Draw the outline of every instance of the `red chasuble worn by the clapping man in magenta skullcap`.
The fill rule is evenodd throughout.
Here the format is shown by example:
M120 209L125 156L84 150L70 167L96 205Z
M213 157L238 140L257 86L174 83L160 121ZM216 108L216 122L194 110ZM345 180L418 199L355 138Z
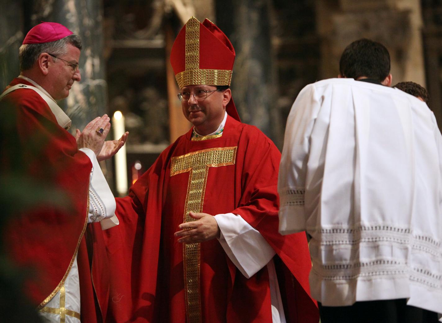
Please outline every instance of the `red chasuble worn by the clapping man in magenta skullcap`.
M17 84L32 86L19 78L10 86ZM4 96L0 101L0 118L8 120L8 136L2 138L0 154L2 172L19 174L36 185L47 185L65 199L61 207L33 204L14 214L3 229L10 258L31 270L24 292L38 309L43 308L64 285L78 253L82 322L96 322L84 239L91 161L78 151L75 138L57 124L48 104L32 89L17 89ZM60 197L50 193L46 198L57 201ZM93 230L89 230L92 238ZM101 232L99 240L103 241ZM92 250L90 256L94 257ZM98 284L99 307L106 312L108 285L101 281Z

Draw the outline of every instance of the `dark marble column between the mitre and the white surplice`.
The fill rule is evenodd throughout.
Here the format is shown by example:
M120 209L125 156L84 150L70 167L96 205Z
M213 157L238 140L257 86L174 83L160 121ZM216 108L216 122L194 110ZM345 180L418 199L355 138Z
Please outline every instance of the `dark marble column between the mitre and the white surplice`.
M232 96L244 123L270 138L281 138L276 104L274 53L271 44L271 1L217 3L217 21L236 51Z

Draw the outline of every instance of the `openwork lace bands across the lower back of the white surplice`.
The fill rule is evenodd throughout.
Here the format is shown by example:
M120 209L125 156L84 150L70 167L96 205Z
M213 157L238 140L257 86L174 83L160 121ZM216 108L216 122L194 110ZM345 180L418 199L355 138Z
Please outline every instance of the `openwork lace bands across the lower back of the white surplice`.
M323 281L370 280L376 278L408 278L426 288L442 290L442 273L419 267L413 260L423 253L431 256L435 263L442 263L441 242L430 235L414 234L409 227L391 224L360 225L355 227L335 226L308 228L315 238L310 242L310 251L326 255L347 250L347 254L360 254L361 248L392 246L411 250L406 258L391 258L379 254L370 261L313 262L312 274ZM356 252L357 251L357 252ZM326 256L324 256L326 258ZM360 255L360 257L362 257Z

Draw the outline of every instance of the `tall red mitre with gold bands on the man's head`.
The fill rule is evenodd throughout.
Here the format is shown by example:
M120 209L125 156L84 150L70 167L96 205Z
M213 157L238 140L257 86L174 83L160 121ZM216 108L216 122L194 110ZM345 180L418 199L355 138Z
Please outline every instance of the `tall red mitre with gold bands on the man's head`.
M191 17L173 43L170 62L179 88L187 85L230 85L235 50L209 19ZM226 111L240 120L230 99Z

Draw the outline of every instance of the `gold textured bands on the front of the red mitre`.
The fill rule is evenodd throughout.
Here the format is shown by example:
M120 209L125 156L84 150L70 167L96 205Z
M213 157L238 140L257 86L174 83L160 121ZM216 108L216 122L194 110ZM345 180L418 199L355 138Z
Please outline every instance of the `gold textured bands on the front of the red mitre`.
M186 23L185 69L175 74L179 88L187 85L230 85L232 71L229 69L199 68L199 27L198 19L192 17Z

